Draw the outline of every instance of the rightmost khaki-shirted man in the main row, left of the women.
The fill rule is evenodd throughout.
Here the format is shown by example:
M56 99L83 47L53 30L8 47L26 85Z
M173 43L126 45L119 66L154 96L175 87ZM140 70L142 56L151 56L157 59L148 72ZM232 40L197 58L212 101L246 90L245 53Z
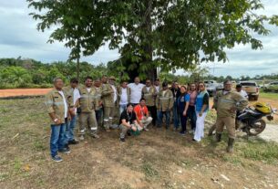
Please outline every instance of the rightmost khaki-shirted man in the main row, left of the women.
M173 93L168 89L166 82L162 83L162 89L160 90L156 105L158 109L158 127L161 127L163 115L166 116L166 129L170 128L170 110L173 108Z

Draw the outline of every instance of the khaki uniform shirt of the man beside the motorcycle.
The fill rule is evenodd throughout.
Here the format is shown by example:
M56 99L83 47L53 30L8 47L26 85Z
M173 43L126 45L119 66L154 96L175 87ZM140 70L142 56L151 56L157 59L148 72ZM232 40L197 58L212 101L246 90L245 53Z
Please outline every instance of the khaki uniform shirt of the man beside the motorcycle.
M226 94L224 94L224 90L218 91L214 97L214 108L217 110L217 116L220 118L234 118L236 112L231 112L231 109L243 110L247 105L248 100L233 90Z

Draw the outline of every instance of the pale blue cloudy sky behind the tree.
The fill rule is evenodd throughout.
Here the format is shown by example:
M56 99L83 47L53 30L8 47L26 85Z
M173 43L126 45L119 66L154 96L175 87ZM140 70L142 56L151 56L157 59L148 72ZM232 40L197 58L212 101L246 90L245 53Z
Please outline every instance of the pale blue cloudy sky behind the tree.
M259 14L277 14L277 0L263 0L264 10ZM62 43L47 44L51 31L44 33L36 30L37 22L28 16L30 9L25 0L0 2L0 58L34 58L42 62L65 61L69 49ZM227 50L229 62L203 63L211 74L216 76L240 77L242 75L278 74L278 27L267 26L272 33L267 37L258 37L263 41L263 50L252 50L248 46L234 47ZM100 47L90 57L82 58L92 64L107 63L118 58L117 50ZM178 71L184 74L183 70Z

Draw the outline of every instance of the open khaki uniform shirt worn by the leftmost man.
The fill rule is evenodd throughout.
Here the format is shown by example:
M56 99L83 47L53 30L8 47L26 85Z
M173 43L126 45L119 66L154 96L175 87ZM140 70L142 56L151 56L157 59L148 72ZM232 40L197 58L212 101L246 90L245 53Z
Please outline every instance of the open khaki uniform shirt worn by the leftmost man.
M68 104L67 94L65 91L63 92L67 101L67 107L69 107L70 105ZM46 94L45 104L48 113L55 113L56 118L59 119L62 123L65 123L64 100L62 95L58 92L57 89L52 89ZM51 119L51 124L55 125L56 123Z

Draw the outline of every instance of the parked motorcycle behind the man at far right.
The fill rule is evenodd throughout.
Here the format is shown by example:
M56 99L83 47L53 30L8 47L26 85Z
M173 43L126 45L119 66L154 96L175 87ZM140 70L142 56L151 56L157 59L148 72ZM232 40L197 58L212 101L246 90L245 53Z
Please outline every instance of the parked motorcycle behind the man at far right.
M277 114L276 111L277 109L273 109L266 103L256 102L238 113L236 127L246 132L248 136L256 136L265 129L266 123L263 117L273 121L273 114Z

